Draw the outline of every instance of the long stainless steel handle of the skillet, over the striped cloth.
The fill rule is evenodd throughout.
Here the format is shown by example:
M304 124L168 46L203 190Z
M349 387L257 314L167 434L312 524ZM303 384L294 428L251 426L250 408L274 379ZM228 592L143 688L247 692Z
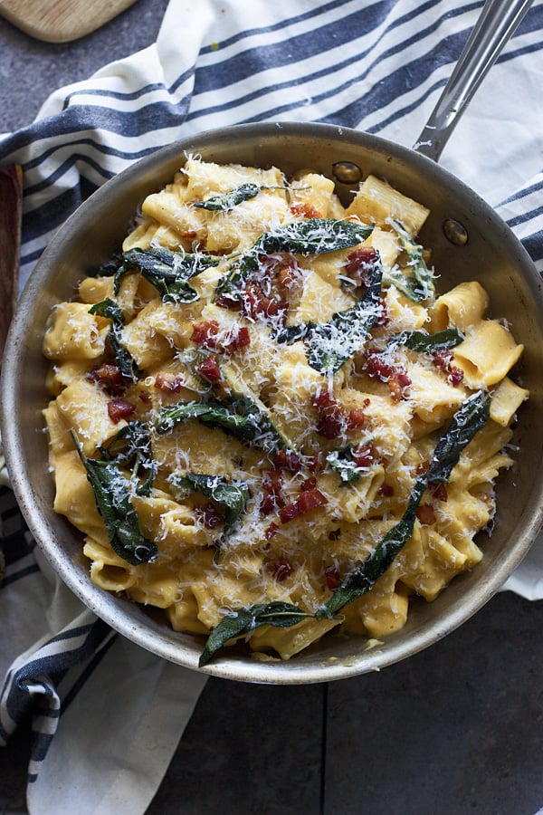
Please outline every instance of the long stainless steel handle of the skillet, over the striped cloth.
M438 161L452 130L533 0L487 0L414 149Z

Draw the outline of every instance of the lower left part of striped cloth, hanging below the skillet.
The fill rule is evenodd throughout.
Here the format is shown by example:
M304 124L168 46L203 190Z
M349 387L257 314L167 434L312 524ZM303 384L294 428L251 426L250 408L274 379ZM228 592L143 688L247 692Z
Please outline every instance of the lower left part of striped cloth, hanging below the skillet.
M84 609L35 551L5 487L0 519L0 744L9 750L15 728L31 721L28 808L32 815L138 815L157 791L205 676L153 657Z

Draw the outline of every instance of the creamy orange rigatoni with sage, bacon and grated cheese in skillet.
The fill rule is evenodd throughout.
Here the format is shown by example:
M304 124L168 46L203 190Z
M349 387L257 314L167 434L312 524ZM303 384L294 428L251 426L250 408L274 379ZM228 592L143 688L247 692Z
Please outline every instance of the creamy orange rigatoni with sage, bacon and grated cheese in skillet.
M98 586L208 636L201 665L386 637L481 561L522 346L479 283L437 292L428 214L189 157L54 308L55 511Z

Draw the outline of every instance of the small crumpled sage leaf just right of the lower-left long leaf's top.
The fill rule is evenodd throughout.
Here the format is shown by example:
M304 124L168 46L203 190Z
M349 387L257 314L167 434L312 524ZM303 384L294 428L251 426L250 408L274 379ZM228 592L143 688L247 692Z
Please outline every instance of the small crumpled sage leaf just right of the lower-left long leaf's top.
M148 426L139 420L121 427L107 446L100 446L100 454L105 461L114 461L119 467L132 470L132 482L138 484L136 493L148 495L151 492L157 462L153 459ZM139 476L143 481L138 483Z

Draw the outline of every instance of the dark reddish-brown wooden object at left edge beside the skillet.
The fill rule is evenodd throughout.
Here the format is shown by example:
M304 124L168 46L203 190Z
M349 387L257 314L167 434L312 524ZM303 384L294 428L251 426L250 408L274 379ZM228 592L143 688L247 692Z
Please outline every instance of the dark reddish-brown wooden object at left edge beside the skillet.
M18 293L22 202L21 168L0 165L0 357Z

